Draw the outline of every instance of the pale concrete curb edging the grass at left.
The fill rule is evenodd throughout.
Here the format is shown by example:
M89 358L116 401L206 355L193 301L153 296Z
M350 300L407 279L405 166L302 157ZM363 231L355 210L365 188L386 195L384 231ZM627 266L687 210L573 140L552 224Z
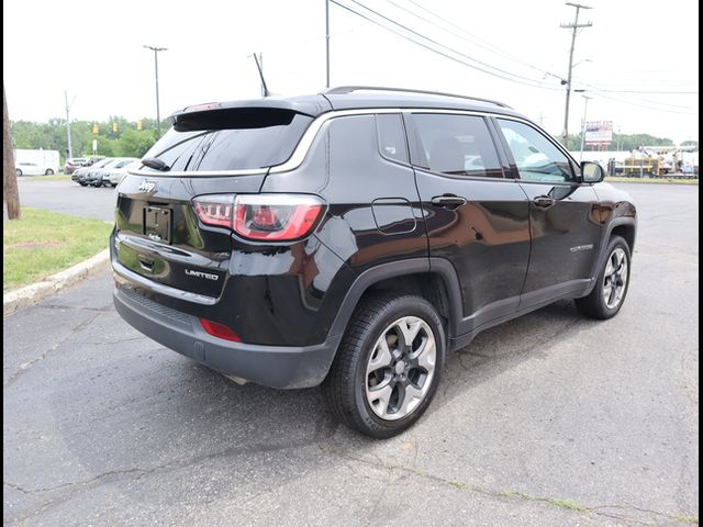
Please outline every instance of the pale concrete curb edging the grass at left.
M15 311L35 304L59 291L96 274L110 261L110 250L104 249L87 260L68 269L52 274L41 282L15 289L2 295L2 314L10 315Z

